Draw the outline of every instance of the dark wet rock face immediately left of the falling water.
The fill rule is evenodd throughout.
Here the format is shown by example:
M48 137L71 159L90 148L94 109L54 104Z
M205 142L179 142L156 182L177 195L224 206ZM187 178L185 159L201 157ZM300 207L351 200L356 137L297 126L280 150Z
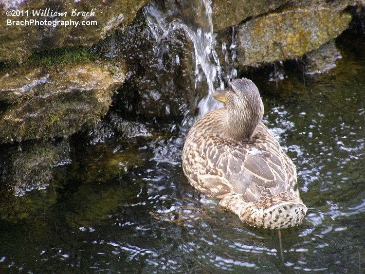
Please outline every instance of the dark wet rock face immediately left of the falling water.
M193 43L181 25L156 41L143 14L136 20L96 46L106 58L113 55L128 64L126 82L113 105L127 118L182 120L196 111L206 92L205 81L195 84Z

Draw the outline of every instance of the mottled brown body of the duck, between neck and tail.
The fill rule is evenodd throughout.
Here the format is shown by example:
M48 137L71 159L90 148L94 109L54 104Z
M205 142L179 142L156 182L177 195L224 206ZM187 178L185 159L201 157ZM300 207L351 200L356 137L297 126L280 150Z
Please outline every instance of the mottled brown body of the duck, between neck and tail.
M258 200L263 191L277 195L294 186L295 166L265 125L260 122L248 141L224 139L219 123L204 123L219 120L224 109L215 111L198 121L185 141L183 171L193 186L210 197L240 194L245 201Z

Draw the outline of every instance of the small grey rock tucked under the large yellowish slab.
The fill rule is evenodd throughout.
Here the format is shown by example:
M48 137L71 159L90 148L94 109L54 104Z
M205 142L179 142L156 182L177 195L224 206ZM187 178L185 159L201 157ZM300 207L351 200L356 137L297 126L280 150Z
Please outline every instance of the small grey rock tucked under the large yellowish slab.
M336 67L335 61L341 59L341 53L336 48L334 41L320 46L304 55L305 73L316 74L325 73Z

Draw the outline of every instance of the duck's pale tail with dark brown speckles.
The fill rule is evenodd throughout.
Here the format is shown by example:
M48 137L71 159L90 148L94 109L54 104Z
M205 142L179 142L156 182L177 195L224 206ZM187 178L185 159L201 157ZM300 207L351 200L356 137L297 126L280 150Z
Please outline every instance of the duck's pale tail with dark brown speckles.
M298 193L283 192L257 201L244 201L239 194L228 195L219 204L233 211L249 225L281 229L298 225L307 213L307 207Z

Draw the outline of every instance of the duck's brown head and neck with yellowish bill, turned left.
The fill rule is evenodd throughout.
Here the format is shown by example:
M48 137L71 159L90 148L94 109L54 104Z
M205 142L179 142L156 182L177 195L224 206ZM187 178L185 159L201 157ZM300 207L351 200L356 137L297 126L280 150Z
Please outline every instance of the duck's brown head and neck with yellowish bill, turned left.
M249 79L236 79L228 88L213 93L227 109L224 130L229 138L242 141L251 137L264 114L264 105L256 85Z

